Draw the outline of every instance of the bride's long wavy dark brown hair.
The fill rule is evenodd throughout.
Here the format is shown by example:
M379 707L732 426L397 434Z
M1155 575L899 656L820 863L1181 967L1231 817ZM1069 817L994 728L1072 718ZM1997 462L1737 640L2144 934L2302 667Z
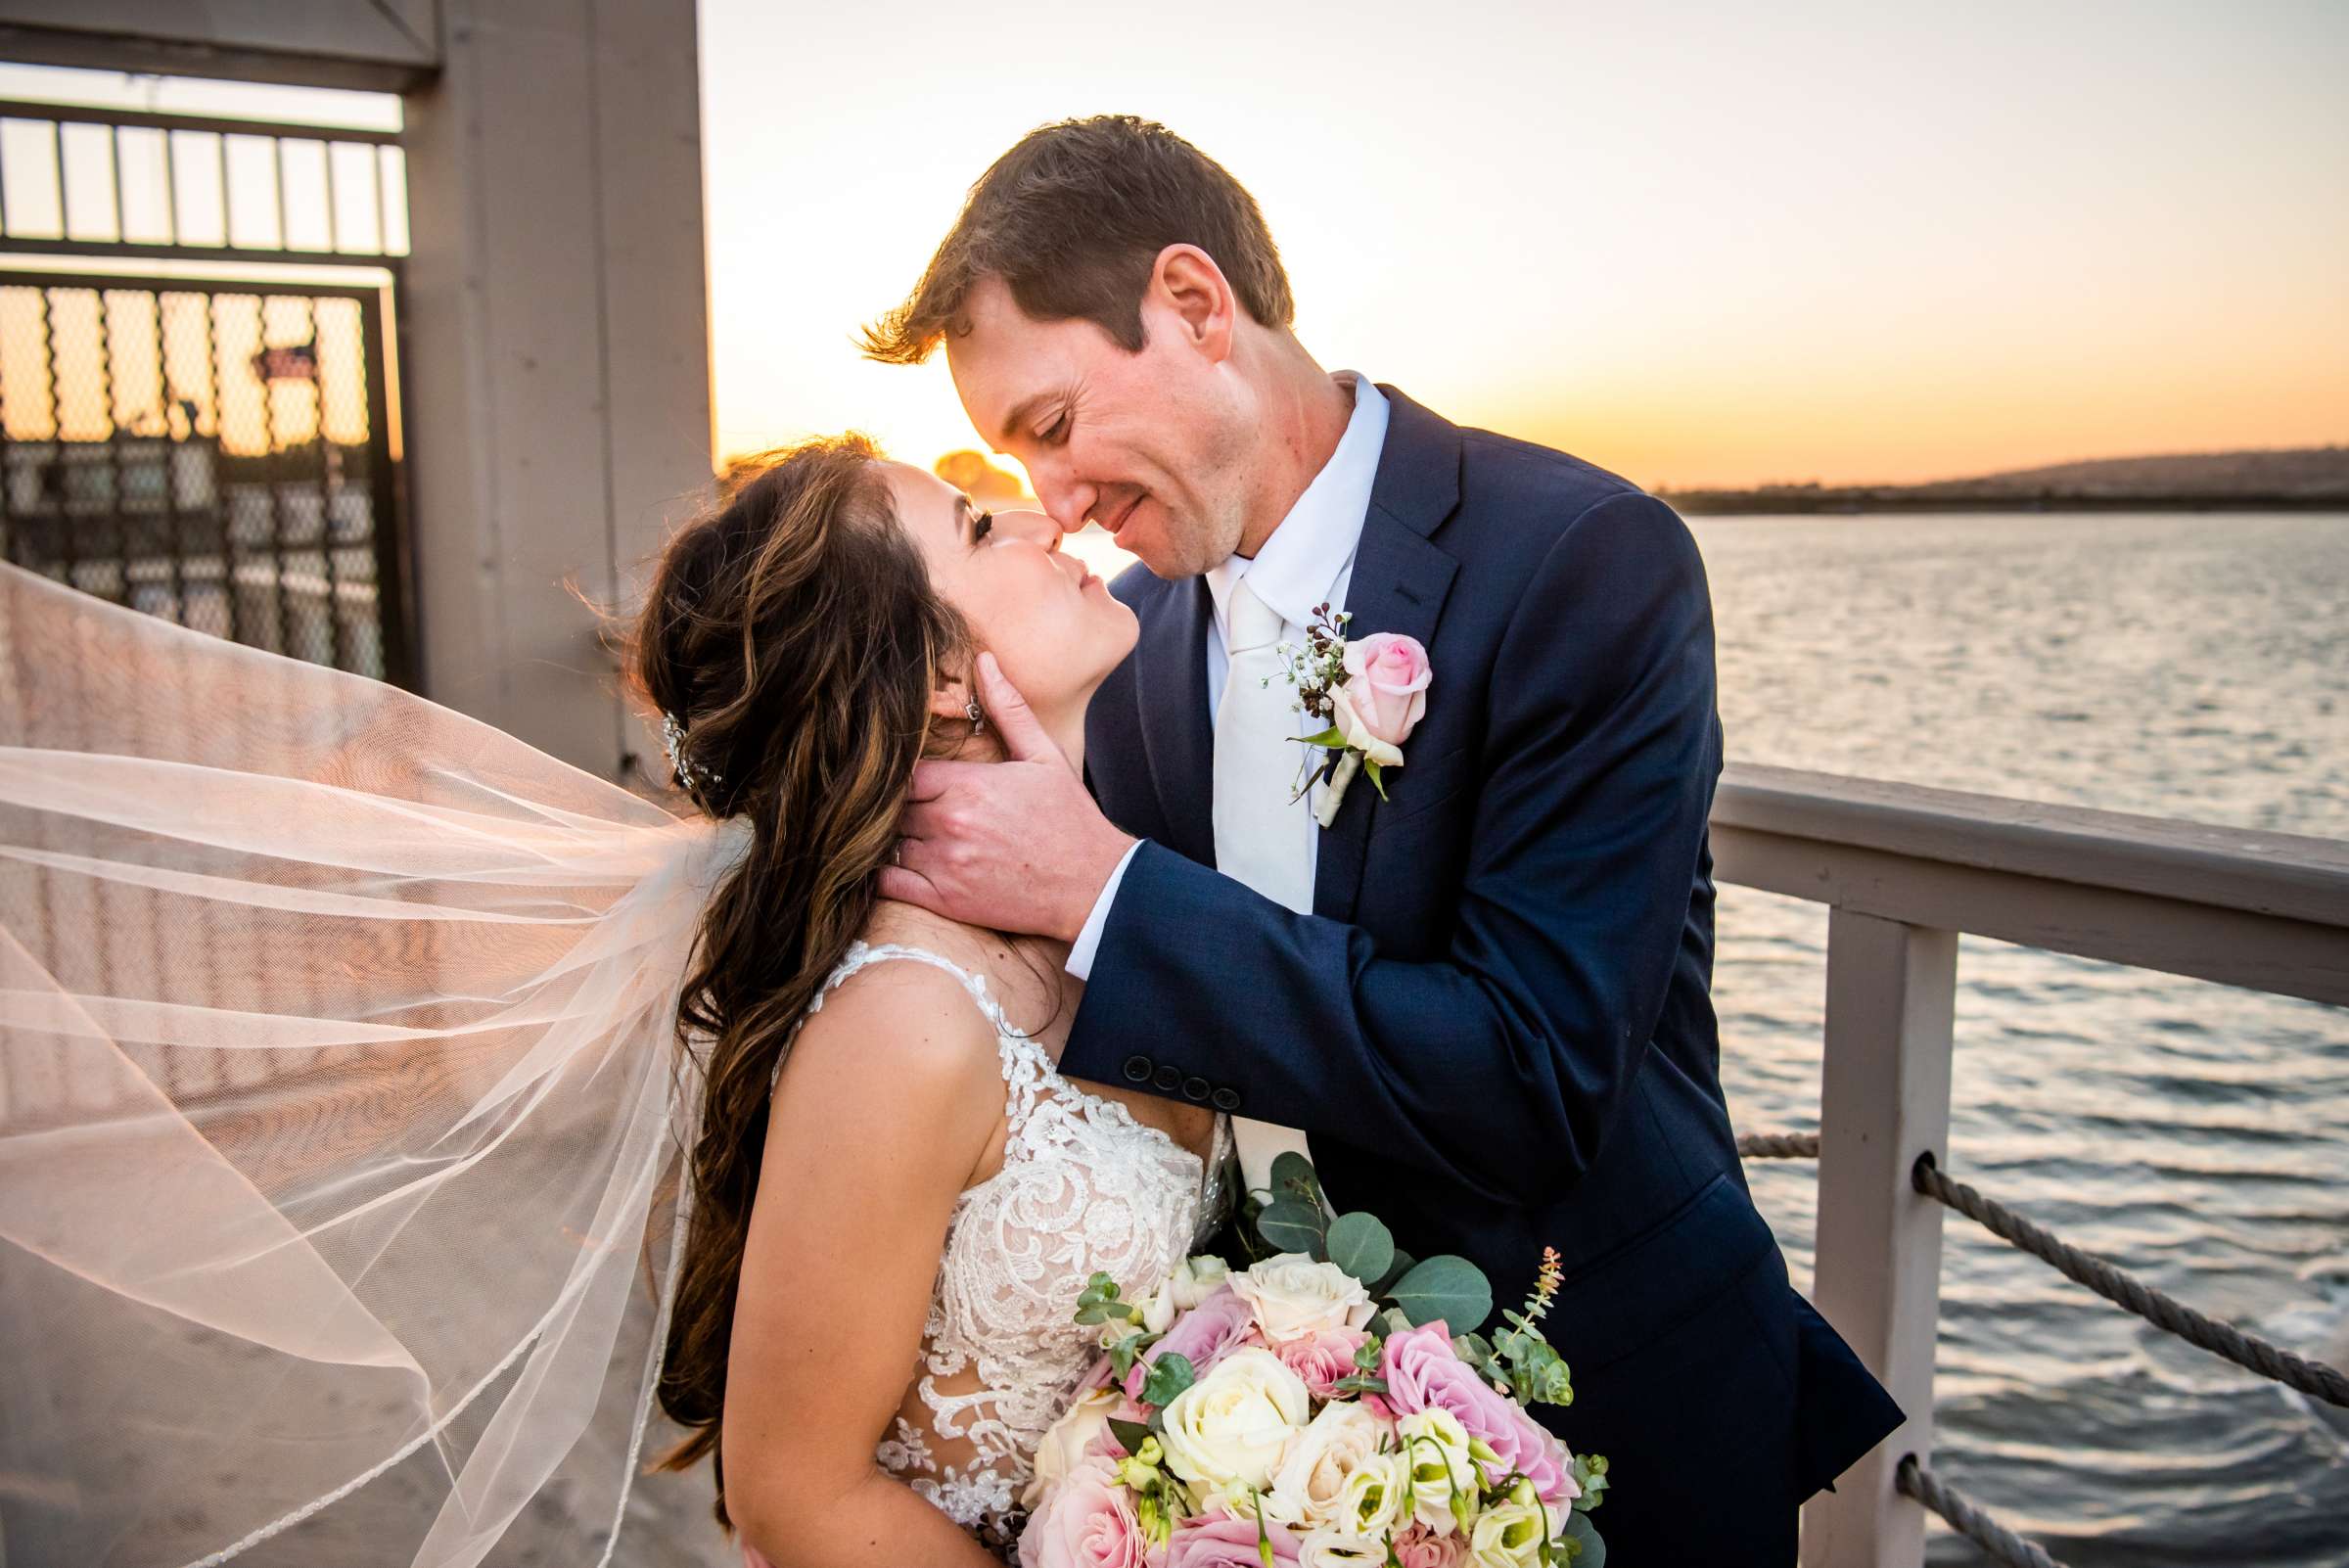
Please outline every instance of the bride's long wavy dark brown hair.
M768 1080L874 913L914 763L968 739L930 716L930 695L968 667L970 634L900 528L879 458L836 437L738 462L669 542L632 638L641 695L684 725L681 784L752 826L679 1002L705 1089L660 1371L660 1406L691 1434L667 1469L719 1453Z

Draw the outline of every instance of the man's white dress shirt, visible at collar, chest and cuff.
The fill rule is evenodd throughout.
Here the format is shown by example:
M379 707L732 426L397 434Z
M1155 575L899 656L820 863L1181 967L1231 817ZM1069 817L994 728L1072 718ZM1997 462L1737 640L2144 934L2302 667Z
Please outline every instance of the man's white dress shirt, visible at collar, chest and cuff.
M1353 392L1353 418L1339 437L1330 462L1313 474L1290 514L1280 519L1254 559L1231 556L1221 566L1207 568L1207 599L1214 613L1207 617L1207 723L1224 697L1224 678L1231 657L1224 653L1231 631L1231 592L1240 577L1257 599L1280 613L1287 622L1283 641L1304 646L1306 627L1313 624L1313 606L1346 606L1346 587L1353 582L1353 554L1362 542L1362 519L1369 516L1369 488L1379 477L1379 453L1386 451L1386 397L1358 371L1337 371L1339 385ZM1304 840L1306 866L1320 861L1320 824L1313 822L1311 803L1290 803L1290 779L1266 779L1266 810L1297 815L1297 833ZM1102 948L1102 932L1109 927L1109 911L1118 901L1125 869L1135 861L1135 845L1109 873L1102 897L1085 915L1085 930L1069 948L1066 969L1076 979L1092 974L1092 958Z

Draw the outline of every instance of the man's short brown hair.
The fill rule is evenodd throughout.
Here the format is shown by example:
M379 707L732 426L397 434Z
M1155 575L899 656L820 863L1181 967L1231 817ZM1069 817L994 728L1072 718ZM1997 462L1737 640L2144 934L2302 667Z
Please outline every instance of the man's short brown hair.
M970 188L914 293L864 329L864 352L921 364L968 331L963 305L984 277L1038 322L1097 322L1139 352L1142 293L1170 244L1207 251L1261 326L1294 324L1273 235L1224 164L1132 115L1038 127Z

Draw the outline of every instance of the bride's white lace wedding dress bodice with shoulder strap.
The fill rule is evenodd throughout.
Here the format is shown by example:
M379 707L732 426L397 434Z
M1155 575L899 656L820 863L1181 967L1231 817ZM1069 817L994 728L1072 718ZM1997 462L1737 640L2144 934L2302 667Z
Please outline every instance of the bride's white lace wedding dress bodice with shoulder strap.
M1003 1169L956 1199L914 1383L876 1460L1008 1552L1036 1446L1099 1357L1099 1329L1076 1322L1078 1293L1095 1272L1146 1293L1205 1242L1231 1199L1231 1120L1217 1117L1200 1162L1062 1077L982 976L923 948L855 944L810 1012L886 960L954 974L994 1023L1010 1136Z

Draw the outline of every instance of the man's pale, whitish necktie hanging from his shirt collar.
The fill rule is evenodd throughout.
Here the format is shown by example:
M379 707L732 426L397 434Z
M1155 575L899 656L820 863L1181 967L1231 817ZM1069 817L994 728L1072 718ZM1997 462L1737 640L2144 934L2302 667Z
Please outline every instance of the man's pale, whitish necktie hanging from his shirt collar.
M1229 674L1214 709L1214 869L1247 883L1266 899L1313 911L1313 852L1306 838L1306 805L1290 803L1297 789L1304 732L1297 690L1283 681L1280 638L1287 622L1240 577L1231 592ZM1304 1045L1304 1042L1299 1042ZM1294 1127L1231 1120L1240 1148L1240 1171L1250 1188L1268 1188L1273 1157L1306 1153Z

